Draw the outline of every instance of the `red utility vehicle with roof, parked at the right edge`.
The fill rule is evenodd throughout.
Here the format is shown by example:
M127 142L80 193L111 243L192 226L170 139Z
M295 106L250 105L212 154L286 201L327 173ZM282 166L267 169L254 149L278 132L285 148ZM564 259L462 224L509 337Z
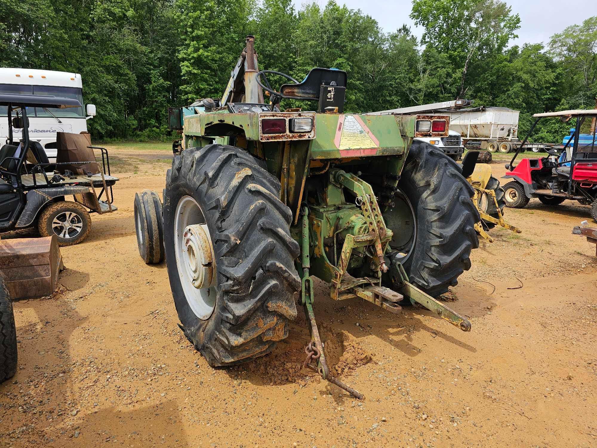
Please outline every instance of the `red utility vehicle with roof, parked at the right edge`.
M530 198L538 198L543 204L558 205L567 199L591 206L591 215L597 221L597 139L595 130L588 143L579 138L581 127L590 125L597 118L597 110L576 110L536 113L529 134L542 118L557 117L563 122L576 119L574 134L563 149L546 146L549 157L522 159L514 165L528 135L516 151L510 163L506 164L506 179L513 179L504 185L507 207L522 208ZM580 142L580 143L579 143Z

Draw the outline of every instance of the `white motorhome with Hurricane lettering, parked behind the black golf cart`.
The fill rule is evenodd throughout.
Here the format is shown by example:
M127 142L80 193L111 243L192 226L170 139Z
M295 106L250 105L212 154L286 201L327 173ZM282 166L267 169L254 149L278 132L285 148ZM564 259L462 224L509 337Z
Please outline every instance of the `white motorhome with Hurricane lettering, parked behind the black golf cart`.
M0 68L0 93L27 95L50 95L74 98L83 105L83 85L78 73ZM87 131L87 120L96 115L96 106L87 108L34 108L27 111L29 136L44 148L50 162L56 161L56 133L79 134ZM87 112L87 113L85 113ZM0 106L0 116L6 116L6 106ZM21 129L13 128L13 135L19 138ZM7 139L8 124L0 122L0 138Z

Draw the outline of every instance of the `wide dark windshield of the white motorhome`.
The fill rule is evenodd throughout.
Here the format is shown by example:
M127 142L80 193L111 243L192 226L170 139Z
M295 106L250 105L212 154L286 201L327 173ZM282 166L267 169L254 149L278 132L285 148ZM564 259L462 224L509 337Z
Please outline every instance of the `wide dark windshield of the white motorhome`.
M24 95L51 95L61 96L66 98L74 98L83 104L83 93L80 88L76 87L60 87L53 85L19 85L19 84L0 84L0 92L2 93L18 93ZM47 116L52 118L52 115L42 108L35 108L35 113L32 113L33 108L27 108L27 115L33 116ZM48 111L59 118L85 118L82 106L80 108L56 109L48 108ZM7 115L6 106L0 106L0 115Z

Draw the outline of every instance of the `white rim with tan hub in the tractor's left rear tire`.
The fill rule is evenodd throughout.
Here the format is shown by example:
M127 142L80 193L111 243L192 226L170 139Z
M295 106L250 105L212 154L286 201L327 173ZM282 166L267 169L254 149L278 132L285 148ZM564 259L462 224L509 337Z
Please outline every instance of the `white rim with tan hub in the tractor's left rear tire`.
M174 220L176 268L184 297L193 313L202 320L210 317L216 306L217 272L210 230L204 216L201 207L192 197L180 198ZM207 247L201 244L205 241L208 241ZM210 259L209 267L198 263L198 260L207 259Z

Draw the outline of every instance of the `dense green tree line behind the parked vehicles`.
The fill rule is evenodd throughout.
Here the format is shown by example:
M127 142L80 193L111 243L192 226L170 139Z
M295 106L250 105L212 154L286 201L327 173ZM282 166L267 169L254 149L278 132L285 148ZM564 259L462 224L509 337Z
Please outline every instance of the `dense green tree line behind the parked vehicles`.
M521 27L501 0L413 0L417 39L333 0L0 0L0 65L81 73L96 137L164 136L168 106L219 97L246 35L261 69L302 79L315 66L346 70L346 111L456 98L531 114L593 108L597 17L550 42L512 46ZM559 140L565 125L537 130Z

